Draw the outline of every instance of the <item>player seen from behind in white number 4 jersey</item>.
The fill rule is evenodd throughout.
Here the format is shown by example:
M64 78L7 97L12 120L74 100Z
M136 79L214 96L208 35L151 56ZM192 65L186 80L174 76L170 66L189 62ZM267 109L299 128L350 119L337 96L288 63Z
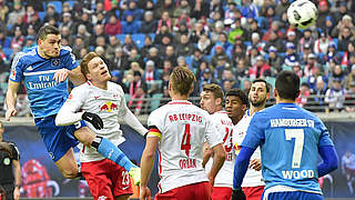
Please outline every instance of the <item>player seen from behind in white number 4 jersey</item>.
M187 101L194 81L192 71L175 68L169 81L172 101L154 110L148 119L149 133L141 160L141 200L151 196L146 184L156 147L161 181L155 199L211 199L211 184L223 166L225 152L210 114ZM204 141L214 153L207 174L202 167Z

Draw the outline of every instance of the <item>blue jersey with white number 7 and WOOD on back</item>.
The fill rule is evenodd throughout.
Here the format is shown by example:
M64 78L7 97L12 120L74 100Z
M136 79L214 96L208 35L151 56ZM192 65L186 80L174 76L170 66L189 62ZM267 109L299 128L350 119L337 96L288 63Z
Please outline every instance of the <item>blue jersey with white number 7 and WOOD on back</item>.
M324 123L294 103L278 103L253 117L242 146L261 147L265 190L286 186L322 193L318 147L334 146Z

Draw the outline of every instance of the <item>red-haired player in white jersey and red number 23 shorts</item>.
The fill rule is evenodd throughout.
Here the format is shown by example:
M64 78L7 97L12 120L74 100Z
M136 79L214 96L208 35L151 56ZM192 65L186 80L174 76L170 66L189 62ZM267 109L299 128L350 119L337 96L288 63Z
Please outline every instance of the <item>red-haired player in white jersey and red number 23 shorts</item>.
M101 118L104 127L101 130L95 130L90 123L88 127L115 146L124 141L120 123L118 123L119 118L122 118L126 124L141 134L148 132L128 109L121 86L109 81L111 76L108 66L97 53L88 53L80 67L88 81L71 91L58 112L57 126L73 124L81 120L84 112L90 112L94 118ZM123 157L123 159L128 158ZM134 167L132 162L126 160L122 167L119 167L98 153L94 148L85 146L81 147L80 161L82 174L87 179L94 199L99 197L129 199L132 188L129 174L122 167L129 171ZM140 181L138 177L134 179Z

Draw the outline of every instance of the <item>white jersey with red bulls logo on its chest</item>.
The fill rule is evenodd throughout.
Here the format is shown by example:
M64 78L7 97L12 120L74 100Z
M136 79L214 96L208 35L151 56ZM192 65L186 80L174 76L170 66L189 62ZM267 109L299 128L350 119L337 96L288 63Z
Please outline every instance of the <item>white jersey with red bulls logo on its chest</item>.
M125 141L119 123L119 118L128 112L121 86L109 81L108 90L102 90L88 81L71 91L62 109L97 113L103 121L103 129L97 130L91 123L87 122L92 131L106 138L115 146ZM104 159L94 148L84 147L82 143L78 147L81 150L81 162Z

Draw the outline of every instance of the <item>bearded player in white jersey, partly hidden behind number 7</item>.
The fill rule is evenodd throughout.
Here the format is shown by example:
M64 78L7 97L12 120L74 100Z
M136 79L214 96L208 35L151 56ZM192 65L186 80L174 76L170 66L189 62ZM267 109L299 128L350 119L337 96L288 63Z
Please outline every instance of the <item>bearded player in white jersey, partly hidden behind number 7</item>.
M234 143L236 149L241 149L240 144L243 142L246 130L248 128L255 112L265 108L266 100L270 98L270 84L263 79L255 79L248 91L250 109L246 110L241 121L235 124ZM261 164L261 152L257 148L252 156L251 166ZM247 169L243 179L243 191L245 192L247 200L260 200L264 191L263 176L260 170Z

